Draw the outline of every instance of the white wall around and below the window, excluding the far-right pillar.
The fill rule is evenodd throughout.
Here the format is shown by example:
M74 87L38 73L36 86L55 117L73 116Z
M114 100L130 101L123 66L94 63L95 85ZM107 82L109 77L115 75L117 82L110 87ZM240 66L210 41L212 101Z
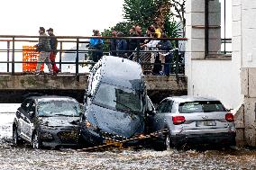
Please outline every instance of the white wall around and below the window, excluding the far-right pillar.
M233 2L241 4L238 0ZM220 16L220 4L218 1L211 2L209 12L212 15ZM213 7L215 6L215 7ZM205 55L205 29L198 29L197 25L205 26L205 0L187 1L187 54L186 54L186 76L187 94L211 96L221 100L228 108L239 108L242 104L240 68L241 68L241 13L235 13L236 50L232 59L206 59ZM187 9L187 8L186 8ZM209 16L210 17L210 16ZM197 18L194 20L194 18ZM211 18L211 17L210 17ZM219 25L220 18L214 17L210 25ZM189 21L192 20L192 21ZM196 26L196 27L195 27ZM203 27L204 28L204 27ZM218 40L220 29L210 29L209 38ZM218 44L218 43L215 43ZM210 48L211 49L211 48ZM216 47L216 49L218 49ZM215 49L214 49L215 50Z

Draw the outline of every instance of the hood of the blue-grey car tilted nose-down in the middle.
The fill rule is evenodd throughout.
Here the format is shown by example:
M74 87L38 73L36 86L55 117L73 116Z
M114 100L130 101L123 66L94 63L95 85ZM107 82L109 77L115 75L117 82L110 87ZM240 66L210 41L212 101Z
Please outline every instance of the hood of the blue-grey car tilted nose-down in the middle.
M119 112L94 105L91 112L87 112L87 117L94 119L101 132L125 138L140 134L144 129L143 116L133 112Z

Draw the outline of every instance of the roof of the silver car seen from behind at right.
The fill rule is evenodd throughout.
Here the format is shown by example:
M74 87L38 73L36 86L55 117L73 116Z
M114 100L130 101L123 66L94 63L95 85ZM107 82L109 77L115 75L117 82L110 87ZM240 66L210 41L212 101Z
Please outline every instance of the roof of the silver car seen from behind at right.
M192 96L192 95L172 96L172 97L167 97L166 99L173 100L178 103L186 103L186 102L193 102L193 101L219 101L212 97Z

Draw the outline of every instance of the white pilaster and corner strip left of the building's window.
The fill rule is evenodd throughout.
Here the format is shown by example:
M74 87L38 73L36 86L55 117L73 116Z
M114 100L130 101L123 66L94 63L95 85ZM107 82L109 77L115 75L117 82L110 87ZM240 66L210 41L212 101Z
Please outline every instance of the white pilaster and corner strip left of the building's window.
M186 2L186 59L187 93L193 94L192 59L202 59L205 54L205 0Z

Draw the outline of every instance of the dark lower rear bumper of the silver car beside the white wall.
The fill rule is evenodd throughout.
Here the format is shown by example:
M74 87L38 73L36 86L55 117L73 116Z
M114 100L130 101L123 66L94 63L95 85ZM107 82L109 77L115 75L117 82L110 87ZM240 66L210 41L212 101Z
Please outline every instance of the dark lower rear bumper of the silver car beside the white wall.
M235 145L235 133L209 133L170 136L173 145L189 144L226 144Z

